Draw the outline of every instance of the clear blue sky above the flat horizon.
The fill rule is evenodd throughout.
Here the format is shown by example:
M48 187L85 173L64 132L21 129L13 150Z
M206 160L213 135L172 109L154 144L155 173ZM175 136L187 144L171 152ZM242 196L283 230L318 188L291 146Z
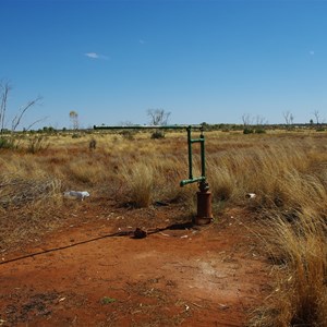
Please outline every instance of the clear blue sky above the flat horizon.
M22 126L327 122L327 1L0 0L0 39Z

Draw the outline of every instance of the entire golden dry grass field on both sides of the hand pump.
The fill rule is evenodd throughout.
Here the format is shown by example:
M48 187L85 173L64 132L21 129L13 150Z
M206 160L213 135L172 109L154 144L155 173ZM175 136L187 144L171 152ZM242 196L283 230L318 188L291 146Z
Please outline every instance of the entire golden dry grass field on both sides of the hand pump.
M179 186L187 178L185 133L150 136L26 133L20 147L0 148L0 251L64 226L56 213L73 209L62 197L69 190L131 208L183 203L194 214L196 185ZM251 210L271 264L275 287L251 313L251 326L327 325L326 138L306 130L206 133L214 215L234 206ZM90 140L97 144L92 150ZM247 199L250 192L256 196Z

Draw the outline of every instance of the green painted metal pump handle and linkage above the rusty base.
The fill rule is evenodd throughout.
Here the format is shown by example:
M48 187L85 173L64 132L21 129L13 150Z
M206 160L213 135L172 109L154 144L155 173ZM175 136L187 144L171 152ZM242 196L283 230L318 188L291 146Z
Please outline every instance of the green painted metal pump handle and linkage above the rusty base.
M208 190L206 183L206 165L205 165L205 137L203 134L202 125L94 125L95 130L186 130L187 131L187 149L189 149L189 179L180 182L181 186L185 186L191 183L199 183L202 191ZM201 130L198 138L192 138L192 130ZM193 160L192 160L192 145L194 143L201 144L201 177L193 177Z

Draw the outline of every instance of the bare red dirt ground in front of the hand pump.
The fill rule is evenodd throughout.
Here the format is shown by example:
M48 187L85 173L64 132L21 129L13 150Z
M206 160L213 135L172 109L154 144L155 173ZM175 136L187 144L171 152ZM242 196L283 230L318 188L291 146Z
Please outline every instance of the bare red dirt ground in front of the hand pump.
M244 326L269 291L249 213L192 227L178 205L95 208L0 256L0 326Z

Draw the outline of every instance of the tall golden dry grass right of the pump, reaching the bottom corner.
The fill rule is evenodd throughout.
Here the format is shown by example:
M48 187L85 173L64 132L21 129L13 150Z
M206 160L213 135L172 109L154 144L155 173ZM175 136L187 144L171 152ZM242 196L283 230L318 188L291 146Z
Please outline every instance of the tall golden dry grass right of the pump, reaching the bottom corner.
M325 145L314 138L263 141L210 159L217 201L246 205L244 194L257 194L249 206L264 218L261 238L276 267L276 291L251 326L327 326Z

